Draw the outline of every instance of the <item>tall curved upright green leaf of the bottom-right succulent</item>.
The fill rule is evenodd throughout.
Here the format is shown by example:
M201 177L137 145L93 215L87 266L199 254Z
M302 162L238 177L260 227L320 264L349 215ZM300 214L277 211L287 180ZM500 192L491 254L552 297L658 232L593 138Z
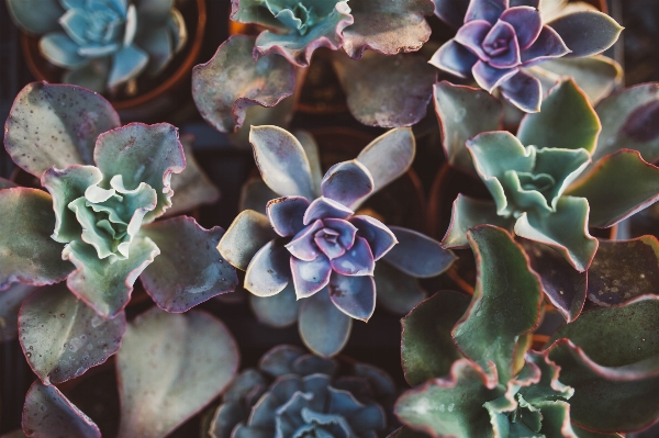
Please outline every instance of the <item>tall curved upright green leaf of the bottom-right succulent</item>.
M515 374L521 338L537 327L543 304L538 276L505 231L482 225L467 233L476 256L473 300L453 337L460 351L483 369L496 366L500 382Z

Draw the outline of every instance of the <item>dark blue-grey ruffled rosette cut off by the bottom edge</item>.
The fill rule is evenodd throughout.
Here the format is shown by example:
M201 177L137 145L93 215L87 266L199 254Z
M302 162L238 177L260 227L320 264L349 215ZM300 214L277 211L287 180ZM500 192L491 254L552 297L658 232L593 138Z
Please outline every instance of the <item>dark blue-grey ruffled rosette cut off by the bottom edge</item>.
M339 371L339 369L348 370ZM266 352L222 397L209 436L382 437L396 390L382 370L346 366L292 346Z

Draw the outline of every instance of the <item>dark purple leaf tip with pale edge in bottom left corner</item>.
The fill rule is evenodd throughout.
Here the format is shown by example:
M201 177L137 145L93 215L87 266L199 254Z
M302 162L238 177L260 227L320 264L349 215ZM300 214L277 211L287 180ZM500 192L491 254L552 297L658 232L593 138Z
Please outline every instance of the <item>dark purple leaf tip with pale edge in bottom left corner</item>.
M23 406L23 431L33 438L101 438L99 427L55 386L35 381Z

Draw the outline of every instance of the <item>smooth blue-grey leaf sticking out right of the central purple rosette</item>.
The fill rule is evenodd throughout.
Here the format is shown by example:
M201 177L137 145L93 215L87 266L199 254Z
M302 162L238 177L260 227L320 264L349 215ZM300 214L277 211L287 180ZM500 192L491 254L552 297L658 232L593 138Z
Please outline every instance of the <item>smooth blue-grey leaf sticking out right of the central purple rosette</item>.
M434 240L421 233L400 226L390 226L398 244L384 255L384 260L417 278L428 278L446 271L455 261L456 256L448 249L442 248Z

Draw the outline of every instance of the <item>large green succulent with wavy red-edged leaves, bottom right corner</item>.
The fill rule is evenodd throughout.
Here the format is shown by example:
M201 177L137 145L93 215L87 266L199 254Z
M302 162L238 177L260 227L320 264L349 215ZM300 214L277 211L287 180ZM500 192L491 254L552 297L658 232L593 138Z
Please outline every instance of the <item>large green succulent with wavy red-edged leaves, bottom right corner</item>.
M490 225L468 237L473 297L443 291L403 319L402 364L416 388L396 402L396 435L617 437L659 419L648 406L659 383L656 295L585 312L534 351L544 299L523 248Z

